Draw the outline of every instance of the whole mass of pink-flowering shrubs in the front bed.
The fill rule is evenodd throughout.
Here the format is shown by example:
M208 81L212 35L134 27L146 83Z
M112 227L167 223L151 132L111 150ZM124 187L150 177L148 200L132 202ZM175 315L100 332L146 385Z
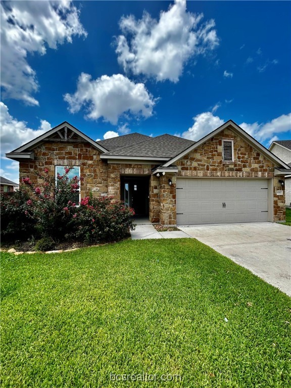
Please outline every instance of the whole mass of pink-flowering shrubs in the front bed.
M122 201L112 197L85 197L80 204L71 201L78 193L80 179L68 178L70 167L64 174L54 177L47 169L37 172L37 186L29 178L23 178L19 190L13 196L1 195L1 237L3 243L35 240L40 249L43 241L51 241L50 247L73 241L81 244L117 241L134 229L134 211ZM81 178L82 179L82 178ZM79 206L78 206L79 205ZM37 243L38 239L42 239Z

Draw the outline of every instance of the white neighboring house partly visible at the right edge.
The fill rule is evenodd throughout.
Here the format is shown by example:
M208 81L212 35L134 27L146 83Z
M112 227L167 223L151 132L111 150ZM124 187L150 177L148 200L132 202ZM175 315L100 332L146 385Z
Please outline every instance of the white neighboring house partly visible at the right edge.
M291 167L291 140L273 141L269 150ZM291 205L291 175L285 176L285 203Z

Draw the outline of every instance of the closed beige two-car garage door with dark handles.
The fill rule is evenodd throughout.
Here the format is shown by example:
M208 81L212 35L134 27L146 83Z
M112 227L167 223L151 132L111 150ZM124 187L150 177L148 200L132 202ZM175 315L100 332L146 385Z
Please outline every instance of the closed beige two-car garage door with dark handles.
M177 178L177 225L268 220L267 179Z

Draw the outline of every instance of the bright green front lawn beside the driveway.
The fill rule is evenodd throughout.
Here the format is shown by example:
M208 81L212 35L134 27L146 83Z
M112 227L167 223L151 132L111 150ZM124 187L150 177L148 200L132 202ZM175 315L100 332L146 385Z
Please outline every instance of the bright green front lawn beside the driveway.
M2 387L285 388L290 312L290 298L195 239L5 253Z

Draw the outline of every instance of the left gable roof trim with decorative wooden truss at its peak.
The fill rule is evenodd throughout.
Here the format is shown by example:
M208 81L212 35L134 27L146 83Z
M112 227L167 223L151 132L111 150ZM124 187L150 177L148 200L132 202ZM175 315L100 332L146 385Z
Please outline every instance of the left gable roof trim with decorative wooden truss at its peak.
M58 135L59 141L70 141L72 136L76 134L77 136L81 137L88 143L90 143L94 148L98 149L101 152L107 152L108 150L101 146L101 144L96 143L93 139L85 135L83 132L79 131L77 128L75 128L73 125L68 123L67 121L64 121L62 124L57 125L55 128L50 129L49 131L43 133L42 135L36 137L35 139L28 141L26 144L23 144L23 146L17 148L16 150L12 151L11 153L7 154L8 157L12 158L14 153L20 154L25 153L27 151L33 150L40 142L45 141L45 139L51 137L52 135Z

